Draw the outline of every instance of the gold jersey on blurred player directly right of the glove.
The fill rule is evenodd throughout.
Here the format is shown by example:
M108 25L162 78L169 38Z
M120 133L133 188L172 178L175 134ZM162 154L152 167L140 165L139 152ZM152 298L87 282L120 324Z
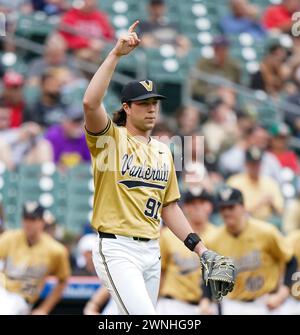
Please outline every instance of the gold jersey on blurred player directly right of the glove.
M238 300L253 300L276 290L282 265L293 255L292 248L274 226L253 218L248 219L238 236L222 226L207 247L234 259L237 278L228 297Z

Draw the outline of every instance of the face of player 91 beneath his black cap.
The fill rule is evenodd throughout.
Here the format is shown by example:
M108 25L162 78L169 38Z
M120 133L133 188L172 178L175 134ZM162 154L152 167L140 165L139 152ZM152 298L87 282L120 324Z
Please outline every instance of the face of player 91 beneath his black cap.
M131 103L127 112L132 125L141 130L149 131L155 126L159 104L157 99L146 99Z

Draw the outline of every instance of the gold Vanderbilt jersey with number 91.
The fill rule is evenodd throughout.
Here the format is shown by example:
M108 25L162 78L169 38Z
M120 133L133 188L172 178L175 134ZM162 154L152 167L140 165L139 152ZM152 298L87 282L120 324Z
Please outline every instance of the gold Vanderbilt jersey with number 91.
M103 132L86 130L94 173L92 226L97 231L159 237L163 206L180 198L167 145L146 144L109 119Z

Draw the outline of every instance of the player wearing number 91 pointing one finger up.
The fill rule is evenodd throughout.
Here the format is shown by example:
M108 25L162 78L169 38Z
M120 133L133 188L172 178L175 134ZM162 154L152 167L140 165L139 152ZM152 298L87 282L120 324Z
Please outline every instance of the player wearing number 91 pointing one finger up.
M151 80L133 81L124 86L122 108L113 120L102 105L120 58L140 43L138 23L118 39L83 98L95 185L92 225L99 234L93 261L121 314L155 314L161 218L200 256L209 283L220 288L218 298L234 284L232 261L206 249L177 205L180 194L169 148L150 137L158 102L165 97Z

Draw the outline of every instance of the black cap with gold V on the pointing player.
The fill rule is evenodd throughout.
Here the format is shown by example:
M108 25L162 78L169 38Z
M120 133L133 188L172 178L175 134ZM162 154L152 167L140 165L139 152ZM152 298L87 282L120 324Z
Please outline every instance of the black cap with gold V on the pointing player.
M121 101L130 102L156 98L166 99L165 96L157 93L156 86L152 80L131 81L123 87Z

